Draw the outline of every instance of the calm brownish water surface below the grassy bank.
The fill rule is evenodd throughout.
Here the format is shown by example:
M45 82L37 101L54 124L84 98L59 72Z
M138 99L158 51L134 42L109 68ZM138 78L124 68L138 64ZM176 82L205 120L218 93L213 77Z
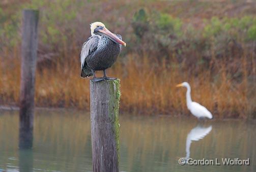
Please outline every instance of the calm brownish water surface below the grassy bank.
M120 115L121 171L256 171L256 122ZM0 111L0 171L92 171L90 115L37 110L33 150L18 149L18 112ZM247 166L179 158L250 159Z

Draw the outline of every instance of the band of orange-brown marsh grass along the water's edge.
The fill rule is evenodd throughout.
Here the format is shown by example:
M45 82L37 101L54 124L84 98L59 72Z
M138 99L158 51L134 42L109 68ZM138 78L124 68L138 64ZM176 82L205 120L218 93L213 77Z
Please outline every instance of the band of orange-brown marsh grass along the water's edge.
M18 105L20 82L19 52L3 60L0 68L1 104ZM8 52L6 52L8 53ZM9 52L10 53L10 52ZM40 67L36 73L36 106L72 107L90 110L89 79L80 78L78 55L56 61L53 67ZM177 62L150 61L136 54L119 58L107 72L121 79L122 111L139 114L188 115L185 88L175 85L187 81L192 99L206 106L219 118L254 118L256 107L255 60L234 59L242 63L240 81L232 78L224 59L213 64L216 73L203 68L200 73ZM252 66L248 72L247 66ZM252 72L251 72L252 71ZM250 75L249 75L250 74ZM102 75L101 72L97 73Z

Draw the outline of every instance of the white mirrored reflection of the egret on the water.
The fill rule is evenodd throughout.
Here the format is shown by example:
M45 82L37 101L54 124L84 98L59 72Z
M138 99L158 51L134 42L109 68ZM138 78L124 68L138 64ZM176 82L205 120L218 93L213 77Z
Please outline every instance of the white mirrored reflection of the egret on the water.
M200 124L198 124L196 127L191 129L191 131L187 135L186 140L186 158L188 159L190 156L190 145L192 141L199 141L203 139L207 134L209 134L212 130L212 125L209 127L203 127Z

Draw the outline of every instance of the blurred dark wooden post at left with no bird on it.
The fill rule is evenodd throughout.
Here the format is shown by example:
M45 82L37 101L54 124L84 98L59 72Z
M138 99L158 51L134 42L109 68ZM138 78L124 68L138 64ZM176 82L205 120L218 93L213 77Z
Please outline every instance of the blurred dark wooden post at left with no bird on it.
M21 149L33 146L38 14L37 10L23 10L19 111L19 148Z

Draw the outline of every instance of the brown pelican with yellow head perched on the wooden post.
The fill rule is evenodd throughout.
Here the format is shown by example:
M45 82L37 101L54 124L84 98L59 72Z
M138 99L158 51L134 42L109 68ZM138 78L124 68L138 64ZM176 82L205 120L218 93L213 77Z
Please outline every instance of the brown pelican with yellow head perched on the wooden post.
M91 34L92 36L82 45L81 77L93 76L94 82L116 79L108 78L106 69L115 63L122 45L126 46L126 43L120 35L110 32L101 22L91 24ZM103 71L104 77L96 78L95 71Z

